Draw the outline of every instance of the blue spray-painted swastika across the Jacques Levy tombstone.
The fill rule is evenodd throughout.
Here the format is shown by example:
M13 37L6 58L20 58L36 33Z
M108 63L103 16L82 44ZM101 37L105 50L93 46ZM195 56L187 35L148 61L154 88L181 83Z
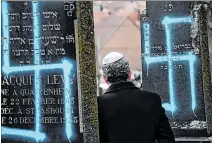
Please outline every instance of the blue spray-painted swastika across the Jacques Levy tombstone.
M33 31L33 39L34 39L34 65L26 65L26 66L10 66L10 33L6 29L9 26L9 18L8 18L8 9L9 5L7 2L2 2L2 37L5 38L3 41L3 62L2 62L2 72L4 74L9 75L12 73L23 73L34 71L34 92L35 92L35 130L25 130L25 129L17 129L17 128L8 128L2 126L2 136L22 136L27 138L34 138L37 142L43 141L46 138L45 133L42 132L42 112L41 112L41 105L40 105L40 98L41 94L41 82L38 78L40 77L41 70L55 70L55 69L62 69L63 76L64 76L64 88L67 92L64 92L64 99L65 101L70 101L71 95L71 82L70 82L70 74L73 71L73 64L68 59L63 59L61 63L55 64L40 64L41 57L39 51L41 49L41 41L39 40L40 37L40 17L37 15L33 17L33 27L37 27ZM32 11L33 13L39 12L39 2L32 2ZM71 103L65 102L64 104L65 109L65 119L71 119L71 113L67 112L66 110L71 109ZM73 128L72 123L70 121L65 122L65 133L70 140L73 136Z

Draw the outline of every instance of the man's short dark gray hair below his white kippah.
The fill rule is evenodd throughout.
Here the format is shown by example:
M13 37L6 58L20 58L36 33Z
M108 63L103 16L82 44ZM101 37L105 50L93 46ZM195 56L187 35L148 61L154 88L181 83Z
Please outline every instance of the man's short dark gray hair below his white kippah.
M111 84L127 81L129 71L129 62L125 57L122 57L115 62L102 65L102 72Z

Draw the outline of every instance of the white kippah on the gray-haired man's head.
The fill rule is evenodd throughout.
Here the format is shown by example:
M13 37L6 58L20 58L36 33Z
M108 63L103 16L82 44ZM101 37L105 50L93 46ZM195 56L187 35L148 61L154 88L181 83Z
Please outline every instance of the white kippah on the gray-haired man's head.
M102 65L113 63L115 61L120 60L123 57L124 57L124 55L121 53L111 52L104 57L104 59L102 61Z

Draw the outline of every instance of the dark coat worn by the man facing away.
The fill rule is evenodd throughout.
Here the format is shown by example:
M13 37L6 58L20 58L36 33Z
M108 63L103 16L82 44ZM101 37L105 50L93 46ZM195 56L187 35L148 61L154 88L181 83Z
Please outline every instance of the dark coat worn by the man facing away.
M132 82L112 84L98 97L101 143L174 143L160 96Z

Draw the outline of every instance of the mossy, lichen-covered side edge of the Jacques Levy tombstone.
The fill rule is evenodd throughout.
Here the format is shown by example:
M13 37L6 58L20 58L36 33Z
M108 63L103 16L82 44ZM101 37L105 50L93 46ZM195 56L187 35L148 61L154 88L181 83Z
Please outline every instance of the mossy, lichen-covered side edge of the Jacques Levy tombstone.
M84 143L99 142L92 7L92 2L77 2L79 65L85 127Z

